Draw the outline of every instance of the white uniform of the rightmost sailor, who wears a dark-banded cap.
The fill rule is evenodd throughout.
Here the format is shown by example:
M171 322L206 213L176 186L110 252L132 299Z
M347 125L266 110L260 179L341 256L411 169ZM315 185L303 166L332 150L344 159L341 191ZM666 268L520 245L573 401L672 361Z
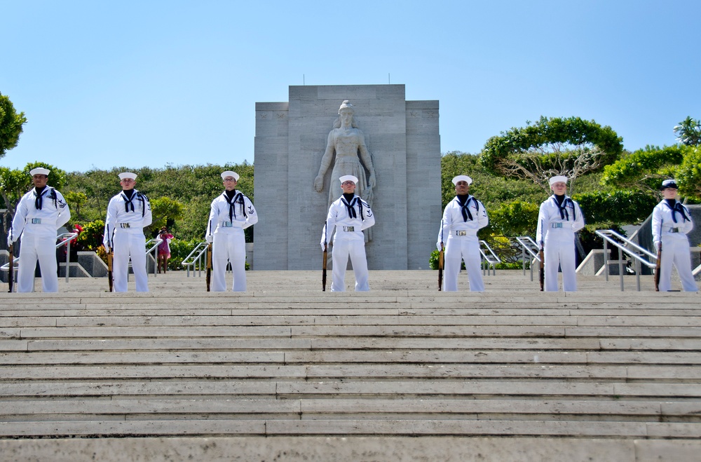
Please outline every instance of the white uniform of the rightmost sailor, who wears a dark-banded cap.
M691 273L689 238L686 236L694 227L688 208L674 199L674 206L662 199L653 209L653 243L655 250L662 240L660 261L660 292L667 292L672 286L672 264L681 279L685 292L697 292L698 287Z

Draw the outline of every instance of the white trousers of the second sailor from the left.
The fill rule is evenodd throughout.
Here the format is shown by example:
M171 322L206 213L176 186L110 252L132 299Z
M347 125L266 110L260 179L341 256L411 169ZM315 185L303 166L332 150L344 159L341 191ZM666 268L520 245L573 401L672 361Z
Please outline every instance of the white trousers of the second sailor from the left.
M114 257L112 258L112 274L114 276L114 292L127 291L129 273L129 258L136 280L137 292L149 292L149 277L146 273L146 238L143 231L125 231L117 229L112 240Z

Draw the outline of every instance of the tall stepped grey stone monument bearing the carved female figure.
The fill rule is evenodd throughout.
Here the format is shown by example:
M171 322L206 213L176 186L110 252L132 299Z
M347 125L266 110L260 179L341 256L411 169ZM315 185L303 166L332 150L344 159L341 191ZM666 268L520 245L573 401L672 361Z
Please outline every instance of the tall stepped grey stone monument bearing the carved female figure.
M438 102L407 101L404 85L290 86L289 102L256 103L253 268L320 269L339 177L355 175L376 217L369 269L427 269L442 214L438 120Z

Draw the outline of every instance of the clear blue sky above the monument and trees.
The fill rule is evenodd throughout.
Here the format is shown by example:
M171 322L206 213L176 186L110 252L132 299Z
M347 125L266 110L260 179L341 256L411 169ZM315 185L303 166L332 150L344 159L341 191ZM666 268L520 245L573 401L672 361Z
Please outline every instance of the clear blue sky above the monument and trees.
M442 153L540 116L670 145L701 118L700 18L697 0L0 0L0 93L27 117L0 165L254 163L255 103L303 84L439 100Z

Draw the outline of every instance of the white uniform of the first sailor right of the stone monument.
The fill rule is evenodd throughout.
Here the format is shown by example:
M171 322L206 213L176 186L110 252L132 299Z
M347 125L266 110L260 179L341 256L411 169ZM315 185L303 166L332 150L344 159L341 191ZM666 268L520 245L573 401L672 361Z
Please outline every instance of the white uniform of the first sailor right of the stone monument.
M465 261L465 269L468 271L470 292L484 292L477 231L488 224L486 208L474 196L468 194L464 207L458 196L445 206L436 247L440 250L440 243L445 244L443 285L446 292L458 290L461 261Z

